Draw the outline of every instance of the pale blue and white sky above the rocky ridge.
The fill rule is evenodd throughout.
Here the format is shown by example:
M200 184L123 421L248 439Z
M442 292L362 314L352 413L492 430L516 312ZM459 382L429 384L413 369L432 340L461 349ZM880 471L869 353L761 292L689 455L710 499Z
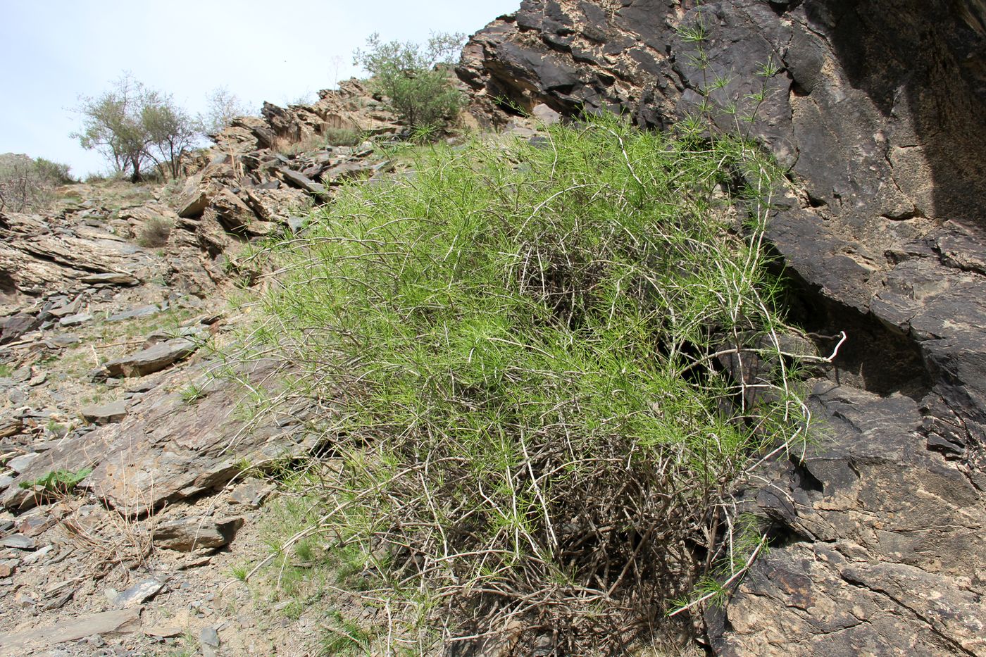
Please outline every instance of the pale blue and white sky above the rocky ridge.
M0 153L107 171L69 134L81 97L109 90L124 72L170 93L191 113L226 87L246 108L317 99L319 89L363 72L353 50L366 37L422 42L471 35L520 0L0 0Z

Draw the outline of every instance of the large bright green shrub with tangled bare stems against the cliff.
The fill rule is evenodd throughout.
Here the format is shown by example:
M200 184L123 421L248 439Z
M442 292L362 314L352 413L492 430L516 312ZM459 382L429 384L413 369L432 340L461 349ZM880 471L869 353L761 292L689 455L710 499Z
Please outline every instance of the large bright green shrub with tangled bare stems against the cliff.
M772 165L616 118L418 153L275 249L250 329L337 410L311 531L435 626L528 620L586 654L660 624L710 564L736 572L732 495L806 438Z

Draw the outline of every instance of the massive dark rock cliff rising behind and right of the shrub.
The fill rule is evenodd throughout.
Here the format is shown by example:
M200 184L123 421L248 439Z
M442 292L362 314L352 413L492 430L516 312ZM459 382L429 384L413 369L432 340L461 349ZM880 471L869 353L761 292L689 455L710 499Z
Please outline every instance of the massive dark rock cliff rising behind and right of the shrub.
M757 493L774 549L705 619L720 654L986 654L984 23L981 0L525 0L463 51L491 122L543 103L666 127L713 74L751 113L780 68L750 128L797 190L770 238L794 319L848 340L815 382L819 445Z

